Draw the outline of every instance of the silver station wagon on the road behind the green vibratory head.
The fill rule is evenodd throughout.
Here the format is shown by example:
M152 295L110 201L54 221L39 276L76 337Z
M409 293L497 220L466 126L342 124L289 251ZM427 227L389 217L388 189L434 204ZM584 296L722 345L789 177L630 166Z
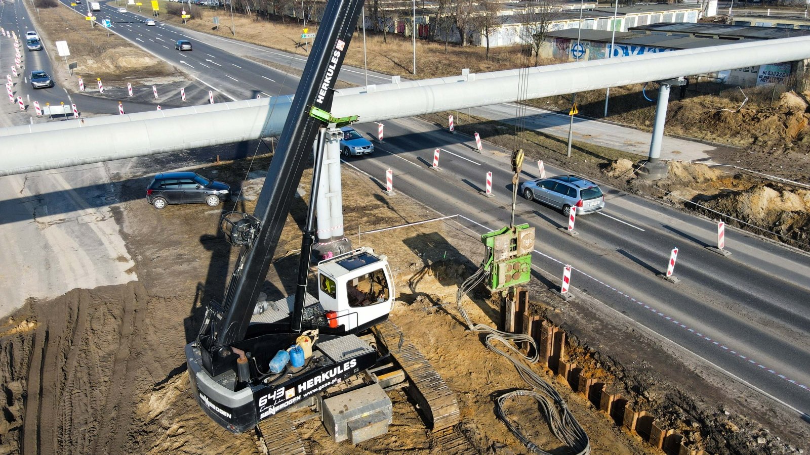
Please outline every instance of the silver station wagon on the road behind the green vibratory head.
M553 176L524 181L518 191L530 201L539 201L562 210L568 216L571 207L577 215L602 210L605 198L599 185L581 176Z

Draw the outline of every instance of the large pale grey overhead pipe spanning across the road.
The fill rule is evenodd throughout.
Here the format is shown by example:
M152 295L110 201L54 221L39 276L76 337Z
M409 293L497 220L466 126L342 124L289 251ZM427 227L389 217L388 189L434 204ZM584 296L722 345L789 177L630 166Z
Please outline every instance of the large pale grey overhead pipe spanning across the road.
M505 70L337 91L335 117L383 121L810 58L810 37ZM0 130L0 176L279 134L289 96Z

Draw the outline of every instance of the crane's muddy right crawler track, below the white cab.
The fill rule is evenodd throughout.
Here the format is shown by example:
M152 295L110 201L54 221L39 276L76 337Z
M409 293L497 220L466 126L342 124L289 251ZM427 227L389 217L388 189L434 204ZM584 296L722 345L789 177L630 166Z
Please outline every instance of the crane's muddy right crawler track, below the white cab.
M419 404L420 412L434 432L453 427L459 421L458 402L433 365L387 320L374 325L374 336L407 375L408 394Z

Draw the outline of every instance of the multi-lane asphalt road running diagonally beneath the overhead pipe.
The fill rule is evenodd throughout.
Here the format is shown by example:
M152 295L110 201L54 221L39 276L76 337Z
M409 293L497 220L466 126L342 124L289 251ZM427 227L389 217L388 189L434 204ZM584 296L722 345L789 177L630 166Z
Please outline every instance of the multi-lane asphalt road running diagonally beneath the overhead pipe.
M6 13L2 17L6 18ZM147 28L145 18L131 12L117 13L112 6L103 6L96 17L113 20L114 31L184 67L225 98L286 94L297 83L295 77L285 77L226 50L236 46L242 53L268 52L257 46L227 43L160 22ZM181 53L173 49L178 39L190 39L194 50ZM0 51L5 57L6 52ZM275 55L282 61L286 58L291 66L301 64L298 57ZM358 83L365 77L356 69L346 69L341 76ZM585 122L578 126L588 127ZM358 128L367 134L376 133L376 125ZM348 159L347 164L381 180L391 168L396 192L406 193L441 214L463 215L467 227L485 232L501 228L509 219L508 153L490 146L478 153L472 150L472 143L471 138L450 135L423 121L390 121L386 124L386 143L379 144L374 155ZM435 147L444 150L440 171L428 168ZM547 168L552 174L566 173ZM479 193L486 172L493 173L494 198ZM536 175L531 164L524 174L524 178ZM594 296L744 381L752 393L770 395L808 419L807 255L727 230L727 249L733 254L721 257L705 248L714 244L713 222L604 189L608 194L606 210L580 217L578 237L556 229L565 223L558 211L535 202L518 202L517 220L538 228L535 266L557 276L563 264L571 264L575 292ZM11 202L19 201L13 194L7 197ZM675 271L681 279L678 284L656 277L666 270L674 247L680 249Z

